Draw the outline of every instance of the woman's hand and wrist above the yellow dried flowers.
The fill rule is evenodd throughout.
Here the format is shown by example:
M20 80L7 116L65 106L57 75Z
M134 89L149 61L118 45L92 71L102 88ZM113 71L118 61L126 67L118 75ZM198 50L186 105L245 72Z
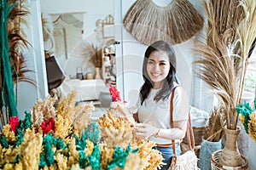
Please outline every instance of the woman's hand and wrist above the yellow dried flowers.
M151 126L147 123L137 123L134 127L135 137L138 139L148 139L150 136L158 133L159 128Z

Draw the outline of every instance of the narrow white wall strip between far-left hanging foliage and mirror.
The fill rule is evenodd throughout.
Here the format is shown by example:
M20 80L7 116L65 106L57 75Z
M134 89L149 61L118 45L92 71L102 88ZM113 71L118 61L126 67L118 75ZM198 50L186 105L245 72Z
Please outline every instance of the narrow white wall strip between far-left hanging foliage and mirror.
M24 117L24 111L32 110L32 106L37 99L44 99L48 95L48 87L46 80L46 70L44 62L44 49L42 48L42 24L40 3L38 0L27 1L30 14L27 17L28 25L24 26L26 31L26 40L31 44L22 52L26 61L27 69L26 78L32 82L18 82L17 86L17 109L20 113L20 119Z

